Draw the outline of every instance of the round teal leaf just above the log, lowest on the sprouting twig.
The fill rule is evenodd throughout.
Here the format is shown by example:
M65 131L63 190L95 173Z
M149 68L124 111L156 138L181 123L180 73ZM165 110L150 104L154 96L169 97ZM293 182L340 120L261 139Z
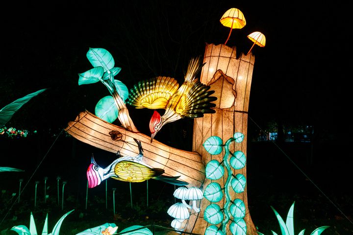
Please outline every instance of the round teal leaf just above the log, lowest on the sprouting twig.
M107 95L98 101L95 109L96 116L112 123L118 118L119 110L115 105L113 96Z

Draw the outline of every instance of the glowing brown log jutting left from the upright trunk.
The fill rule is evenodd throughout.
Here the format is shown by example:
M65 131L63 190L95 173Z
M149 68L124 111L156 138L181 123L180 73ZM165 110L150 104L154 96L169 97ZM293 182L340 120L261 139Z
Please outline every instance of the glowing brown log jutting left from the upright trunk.
M136 156L139 153L134 141L137 139L141 141L146 164L164 169L165 175L180 176L180 180L191 186L200 188L204 181L204 165L197 152L172 148L155 140L151 143L149 136L127 131L88 111L79 113L75 121L68 123L65 131L79 141L113 153L120 151L123 156Z

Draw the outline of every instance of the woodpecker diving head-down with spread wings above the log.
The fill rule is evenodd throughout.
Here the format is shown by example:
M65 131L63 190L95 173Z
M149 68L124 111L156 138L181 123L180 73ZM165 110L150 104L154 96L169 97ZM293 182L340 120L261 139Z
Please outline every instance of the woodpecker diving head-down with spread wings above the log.
M205 64L205 63L204 63ZM167 123L180 118L201 118L204 114L215 113L212 103L217 97L210 96L210 86L202 84L196 75L201 71L200 56L192 58L189 62L185 80L179 87L176 79L158 76L149 80L140 81L130 89L126 103L137 109L165 109L161 116L153 112L150 120L151 142L158 131Z

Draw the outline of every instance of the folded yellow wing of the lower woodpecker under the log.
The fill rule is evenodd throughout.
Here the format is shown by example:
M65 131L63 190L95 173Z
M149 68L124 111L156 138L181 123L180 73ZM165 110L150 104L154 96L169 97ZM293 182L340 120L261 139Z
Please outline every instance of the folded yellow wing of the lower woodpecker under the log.
M121 161L114 167L114 173L117 177L113 179L126 181L126 182L143 182L149 180L152 177L159 176L164 173L163 169L150 168L146 165L131 162Z

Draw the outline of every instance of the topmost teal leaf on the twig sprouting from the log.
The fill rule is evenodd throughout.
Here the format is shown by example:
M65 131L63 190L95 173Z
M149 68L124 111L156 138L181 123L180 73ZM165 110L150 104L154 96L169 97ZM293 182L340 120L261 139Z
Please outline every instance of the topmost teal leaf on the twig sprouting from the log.
M103 67L104 72L109 71L114 68L113 56L103 48L89 48L87 54L87 59L92 64L93 67Z

